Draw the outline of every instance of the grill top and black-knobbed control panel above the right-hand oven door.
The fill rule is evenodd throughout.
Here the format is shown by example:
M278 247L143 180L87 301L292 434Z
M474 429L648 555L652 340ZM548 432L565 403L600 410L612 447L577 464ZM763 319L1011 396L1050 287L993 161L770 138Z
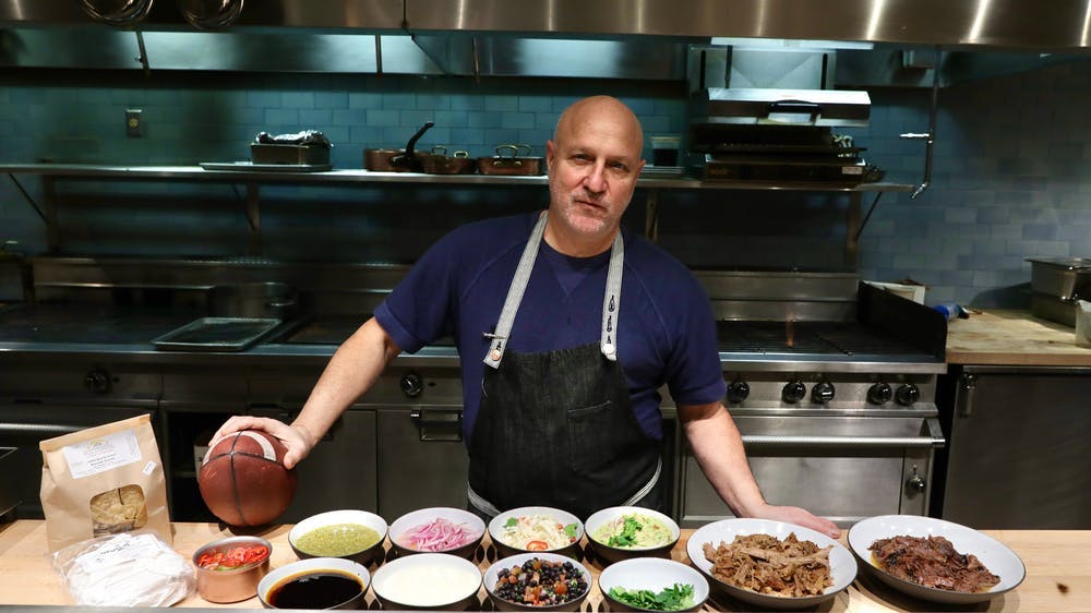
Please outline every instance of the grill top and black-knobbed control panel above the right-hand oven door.
M865 284L856 306L854 321L718 321L729 408L933 414L945 323Z

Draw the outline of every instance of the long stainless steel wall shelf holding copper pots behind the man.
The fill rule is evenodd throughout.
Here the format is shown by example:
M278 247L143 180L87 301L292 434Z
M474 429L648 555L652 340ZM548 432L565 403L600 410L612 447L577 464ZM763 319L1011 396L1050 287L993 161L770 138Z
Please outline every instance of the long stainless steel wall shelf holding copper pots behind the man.
M324 172L268 170L206 170L200 166L110 166L91 164L7 164L0 171L9 175L40 175L71 179L143 179L143 180L194 180L194 181L241 181L248 183L435 183L464 185L544 185L548 179L541 177L504 177L487 175L424 175L419 172L372 172L362 169L327 170ZM831 185L829 183L782 182L767 183L754 181L704 181L662 172L647 172L637 185L666 190L791 190L826 192L912 192L915 185L906 183L875 182L859 185Z

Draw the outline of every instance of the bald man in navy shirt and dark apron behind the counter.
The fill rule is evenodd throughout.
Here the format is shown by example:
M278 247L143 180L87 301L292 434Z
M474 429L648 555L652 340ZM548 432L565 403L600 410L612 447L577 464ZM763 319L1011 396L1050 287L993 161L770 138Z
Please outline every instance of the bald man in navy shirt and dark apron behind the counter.
M666 510L667 385L694 456L734 515L836 537L831 521L765 501L721 402L707 296L685 266L621 228L643 146L640 122L620 100L573 104L546 145L547 211L448 233L337 349L290 425L238 416L216 435L265 430L293 466L395 356L453 335L467 500L483 517L536 505L585 519L616 505Z

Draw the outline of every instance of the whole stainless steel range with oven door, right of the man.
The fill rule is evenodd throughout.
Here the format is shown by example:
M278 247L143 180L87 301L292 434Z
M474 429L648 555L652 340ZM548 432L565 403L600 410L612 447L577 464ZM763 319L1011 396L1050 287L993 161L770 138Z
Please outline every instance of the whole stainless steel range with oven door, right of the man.
M702 278L721 316L724 404L766 498L840 526L925 515L945 444L943 316L852 275ZM731 516L688 450L680 472L682 525Z

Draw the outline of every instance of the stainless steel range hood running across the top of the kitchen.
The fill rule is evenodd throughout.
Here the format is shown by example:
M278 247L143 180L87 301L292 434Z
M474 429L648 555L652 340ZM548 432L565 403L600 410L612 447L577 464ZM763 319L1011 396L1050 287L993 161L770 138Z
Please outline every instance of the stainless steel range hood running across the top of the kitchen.
M0 2L0 67L684 81L690 47L741 37L870 43L838 51L839 75L918 86L932 67L906 57L936 46L944 83L1091 50L1091 0L252 0L219 32L189 25L183 2L156 0L127 28L76 0ZM957 61L996 49L1018 58Z

